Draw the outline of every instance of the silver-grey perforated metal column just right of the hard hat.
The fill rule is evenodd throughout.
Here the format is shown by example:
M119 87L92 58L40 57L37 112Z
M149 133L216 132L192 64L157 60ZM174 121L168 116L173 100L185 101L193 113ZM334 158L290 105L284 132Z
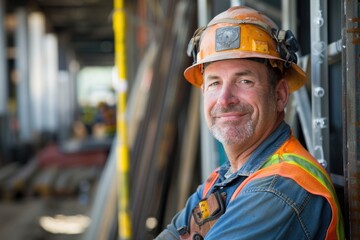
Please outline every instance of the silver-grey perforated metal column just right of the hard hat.
M329 162L327 1L313 0L310 4L313 155L327 168Z

